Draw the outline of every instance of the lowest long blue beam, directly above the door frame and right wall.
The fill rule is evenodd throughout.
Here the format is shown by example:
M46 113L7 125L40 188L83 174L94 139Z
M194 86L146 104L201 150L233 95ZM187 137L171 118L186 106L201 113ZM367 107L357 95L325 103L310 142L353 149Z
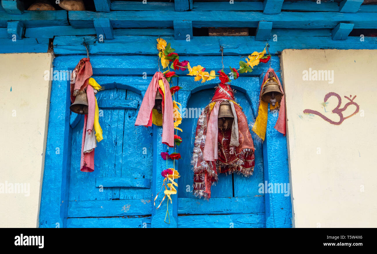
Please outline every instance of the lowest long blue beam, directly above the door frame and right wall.
M377 16L377 15L376 15ZM355 28L355 27L354 27ZM303 33L308 36L296 35L296 33L275 33L277 41L270 41L270 53L278 54L284 49L374 49L377 44L376 37L365 37L361 42L359 37L349 37L348 41L333 41L330 35L310 36L310 30ZM324 31L327 33L328 30ZM85 40L89 43L90 55L156 55L156 37L141 36L115 36L114 40L105 43L96 43L95 37L57 36L54 40L54 52L57 55L85 54L84 46L78 47ZM224 47L224 55L250 54L255 50L262 50L264 41L255 41L254 37L195 37L190 43L185 40L174 40L172 37L164 37L172 44L179 55L221 55L219 47ZM138 51L135 44L143 43ZM157 61L157 60L156 60ZM156 62L155 61L155 62ZM144 65L144 64L143 64Z

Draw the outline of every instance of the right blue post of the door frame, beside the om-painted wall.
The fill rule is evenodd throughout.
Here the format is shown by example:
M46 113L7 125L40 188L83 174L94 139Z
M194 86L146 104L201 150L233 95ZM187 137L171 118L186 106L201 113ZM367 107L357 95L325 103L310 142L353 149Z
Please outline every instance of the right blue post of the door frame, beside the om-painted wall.
M276 74L281 80L280 73ZM277 117L278 114L268 112L267 131L263 142L264 184L285 184L290 191L287 138L274 128ZM291 196L285 196L284 193L265 193L265 220L267 228L292 227Z

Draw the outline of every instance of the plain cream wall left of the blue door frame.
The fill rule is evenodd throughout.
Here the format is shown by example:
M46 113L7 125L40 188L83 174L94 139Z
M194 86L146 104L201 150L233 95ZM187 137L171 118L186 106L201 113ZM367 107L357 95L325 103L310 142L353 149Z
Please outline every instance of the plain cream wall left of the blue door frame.
M38 227L52 55L0 54L0 62L0 227ZM23 193L9 193L14 184Z

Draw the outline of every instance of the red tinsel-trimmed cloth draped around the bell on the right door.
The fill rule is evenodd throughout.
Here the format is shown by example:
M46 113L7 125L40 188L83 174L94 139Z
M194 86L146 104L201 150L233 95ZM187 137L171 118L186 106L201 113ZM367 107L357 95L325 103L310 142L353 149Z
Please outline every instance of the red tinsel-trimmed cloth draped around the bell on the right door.
M233 91L228 84L219 84L211 103L216 102L216 106L224 100L234 100ZM215 106L213 110L215 110ZM234 103L234 110L238 118L239 145L230 145L231 129L218 130L216 140L210 141L210 147L212 147L213 142L216 143L217 141L216 152L218 156L217 160L214 161L204 159L204 149L208 139L213 139L212 135L208 135L211 117L215 116L211 112L210 105L205 107L198 119L191 163L194 171L193 194L199 196L199 198L211 198L211 185L218 180L218 173L241 173L244 176L253 174L255 164L253 139L246 116L236 103ZM217 116L216 114L216 128Z

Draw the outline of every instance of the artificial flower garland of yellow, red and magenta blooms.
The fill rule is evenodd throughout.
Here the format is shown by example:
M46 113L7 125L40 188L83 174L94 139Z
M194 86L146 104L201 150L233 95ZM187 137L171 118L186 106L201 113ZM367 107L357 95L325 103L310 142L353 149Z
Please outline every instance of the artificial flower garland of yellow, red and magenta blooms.
M251 55L248 56L248 58L245 58L244 61L239 62L239 68L230 68L230 73L226 74L224 70L219 70L216 75L215 70L211 71L205 71L205 68L202 67L201 65L196 65L194 67L190 66L190 62L187 60L184 61L179 61L179 55L175 53L175 49L170 47L170 43L168 44L164 39L158 38L157 39L157 50L158 50L158 57L159 57L159 62L161 61L161 65L163 69L166 69L163 74L168 82L171 81L172 78L178 77L178 75L175 73L175 71L170 71L170 68L173 70L181 70L185 71L188 70L189 73L187 75L189 76L195 76L194 80L195 81L200 81L202 83L206 81L210 81L212 79L215 79L216 77L219 77L221 83L227 83L230 82L231 79L237 79L239 77L239 73L247 73L253 71L253 67L258 65L260 62L267 63L271 59L271 55L265 55L266 54L266 49L268 47L268 43L266 44L264 50L262 52L253 52ZM172 62L170 64L170 62ZM169 68L170 64L170 68ZM170 204L172 204L172 199L170 195L174 195L177 193L177 190L174 186L178 187L178 184L174 181L174 179L178 179L180 177L179 173L177 170L175 170L175 160L178 160L181 158L181 154L176 152L176 146L179 146L182 143L182 138L177 135L177 130L182 131L182 129L178 128L178 125L181 124L182 122L182 114L179 111L178 105L181 105L180 103L175 101L174 94L175 92L179 91L182 87L179 86L172 86L170 87L170 93L173 95L173 117L174 117L174 128L176 129L176 134L174 135L174 152L169 154L169 148L166 152L161 152L161 157L163 160L166 160L166 167L167 165L167 160L170 158L173 160L173 168L167 168L161 172L161 175L164 177L164 181L161 187L161 190L163 187L165 187L164 190L164 198L162 198L162 201L166 197L168 197L167 200L167 210L166 210L166 216L165 216L165 222L166 218L169 218L170 223L170 215L169 215L169 200ZM177 105L178 104L178 105ZM170 181L170 183L168 183ZM166 187L167 183L167 187ZM170 188L168 190L168 188ZM154 199L154 205L155 201L158 197L158 194L156 195ZM157 209L161 206L162 201L158 205Z

